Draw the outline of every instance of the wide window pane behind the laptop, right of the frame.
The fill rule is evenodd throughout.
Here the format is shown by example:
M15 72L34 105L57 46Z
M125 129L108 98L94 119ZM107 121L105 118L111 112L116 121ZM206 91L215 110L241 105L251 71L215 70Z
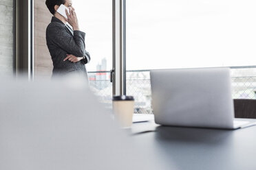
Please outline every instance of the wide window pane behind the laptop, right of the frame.
M256 66L253 0L127 0L127 95L151 113L151 69ZM255 99L256 69L232 69L233 98Z

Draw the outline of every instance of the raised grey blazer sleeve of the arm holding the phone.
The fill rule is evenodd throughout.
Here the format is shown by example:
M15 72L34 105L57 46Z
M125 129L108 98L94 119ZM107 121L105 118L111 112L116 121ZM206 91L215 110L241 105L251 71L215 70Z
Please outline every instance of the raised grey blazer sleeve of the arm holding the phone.
M47 36L50 40L76 57L85 56L85 33L74 31L74 36L69 34L63 25L54 24L47 28Z

